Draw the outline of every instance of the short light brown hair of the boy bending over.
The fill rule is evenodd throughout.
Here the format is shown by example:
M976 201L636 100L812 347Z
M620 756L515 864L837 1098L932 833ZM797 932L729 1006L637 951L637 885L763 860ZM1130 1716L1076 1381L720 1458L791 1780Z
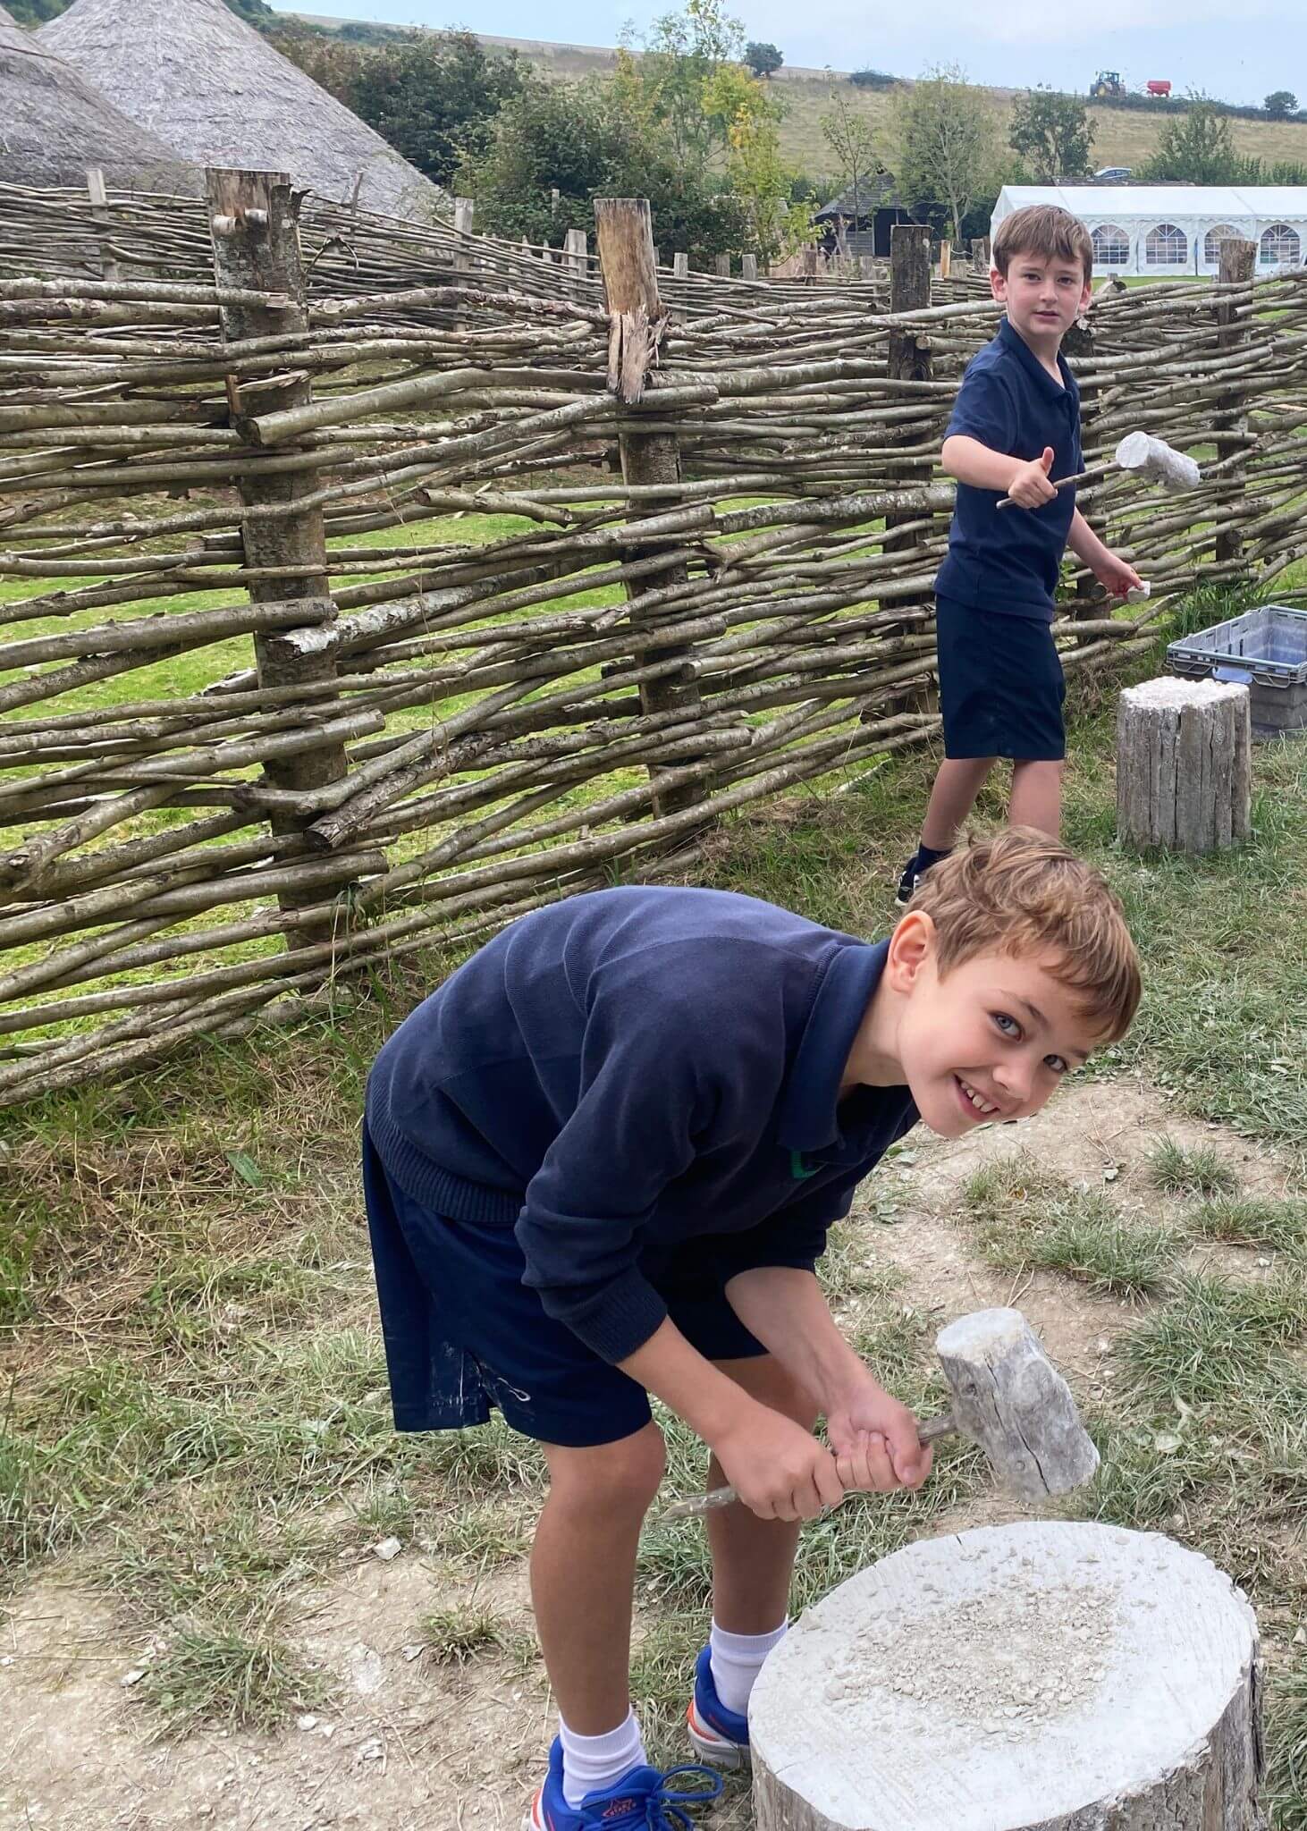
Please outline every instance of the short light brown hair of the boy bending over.
M1031 826L959 846L923 877L912 908L935 925L941 978L976 954L1049 956L1049 972L1118 1042L1139 1007L1126 912L1093 866Z

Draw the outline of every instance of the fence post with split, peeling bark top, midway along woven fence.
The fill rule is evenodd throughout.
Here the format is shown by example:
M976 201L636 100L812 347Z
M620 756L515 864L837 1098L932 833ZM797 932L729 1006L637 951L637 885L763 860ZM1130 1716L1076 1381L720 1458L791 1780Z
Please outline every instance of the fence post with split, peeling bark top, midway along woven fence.
M657 267L654 256L654 233L646 198L595 198L595 238L599 244L599 265L604 278L604 298L610 313L608 335L608 386L613 394L637 406L644 395L644 377L657 350L666 322L666 311L657 289ZM685 256L677 255L677 260ZM622 480L626 483L679 483L681 449L672 432L621 432ZM661 507L674 507L675 498L659 498ZM635 511L639 513L639 511ZM628 558L643 558L650 549L632 546ZM659 549L654 549L659 551ZM632 604L632 623L639 624L639 601L648 591L663 591L668 586L685 584L688 571L685 560L672 560L654 573L646 573L639 584L628 584L626 595ZM692 650L685 645L670 648L652 648L644 654L646 665L681 661ZM688 668L674 668L664 676L641 683L641 709L644 712L685 712L697 718L701 710L699 685ZM654 769L650 780L657 784L659 771ZM690 807L708 791L707 782L686 782L664 795L655 795L654 807L659 815Z

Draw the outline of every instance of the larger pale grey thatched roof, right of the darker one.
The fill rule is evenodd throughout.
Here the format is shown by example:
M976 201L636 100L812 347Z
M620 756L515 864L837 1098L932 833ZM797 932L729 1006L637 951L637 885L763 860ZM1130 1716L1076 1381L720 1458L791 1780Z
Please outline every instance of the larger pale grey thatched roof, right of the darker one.
M75 0L40 27L123 114L196 165L289 172L333 203L430 220L421 172L223 0Z

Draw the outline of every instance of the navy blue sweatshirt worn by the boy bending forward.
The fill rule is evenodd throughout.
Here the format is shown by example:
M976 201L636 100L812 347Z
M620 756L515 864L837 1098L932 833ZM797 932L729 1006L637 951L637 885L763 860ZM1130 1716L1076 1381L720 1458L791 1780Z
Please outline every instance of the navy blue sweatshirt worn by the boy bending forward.
M915 1124L906 1088L838 1099L886 950L719 890L569 897L405 1018L368 1130L416 1201L514 1227L544 1309L624 1360L666 1315L644 1249L811 1269Z

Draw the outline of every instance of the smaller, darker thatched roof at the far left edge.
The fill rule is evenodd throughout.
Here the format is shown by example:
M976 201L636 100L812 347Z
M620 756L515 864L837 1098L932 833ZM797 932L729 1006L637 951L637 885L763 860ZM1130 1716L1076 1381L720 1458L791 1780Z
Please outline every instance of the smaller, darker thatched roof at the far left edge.
M88 165L103 167L115 189L203 189L201 172L121 115L0 5L0 178L37 190L84 185Z

